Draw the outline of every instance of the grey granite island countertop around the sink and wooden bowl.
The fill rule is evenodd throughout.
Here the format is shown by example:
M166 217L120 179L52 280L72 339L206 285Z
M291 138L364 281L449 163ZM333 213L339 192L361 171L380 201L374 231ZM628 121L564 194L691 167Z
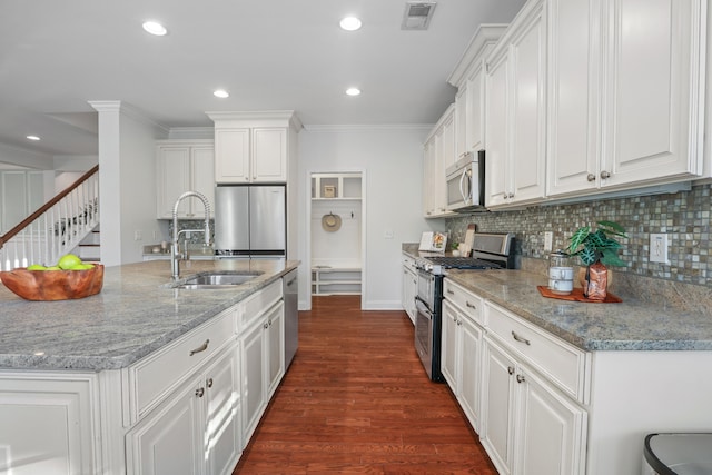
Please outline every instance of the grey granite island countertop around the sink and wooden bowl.
M216 290L170 288L170 264L162 260L106 267L101 293L77 300L28 301L0 285L0 368L123 368L298 265L268 259L181 263L184 278L210 270L263 273Z

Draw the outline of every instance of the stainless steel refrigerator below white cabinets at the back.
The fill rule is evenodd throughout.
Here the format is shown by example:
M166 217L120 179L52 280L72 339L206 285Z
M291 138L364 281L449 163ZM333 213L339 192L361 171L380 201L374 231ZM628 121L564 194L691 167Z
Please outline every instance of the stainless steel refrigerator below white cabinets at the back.
M218 185L215 188L217 257L286 257L285 185Z

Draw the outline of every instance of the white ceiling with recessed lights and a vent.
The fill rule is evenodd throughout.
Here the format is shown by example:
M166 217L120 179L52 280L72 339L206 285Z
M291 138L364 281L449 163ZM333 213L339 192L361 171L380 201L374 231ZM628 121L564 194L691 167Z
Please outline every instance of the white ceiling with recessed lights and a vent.
M0 0L0 144L95 155L90 100L121 100L165 127L268 109L307 126L433 123L477 27L510 22L523 3L438 0L427 31L404 31L405 0ZM363 28L340 30L346 14ZM144 32L149 19L168 36ZM362 96L345 96L350 86Z

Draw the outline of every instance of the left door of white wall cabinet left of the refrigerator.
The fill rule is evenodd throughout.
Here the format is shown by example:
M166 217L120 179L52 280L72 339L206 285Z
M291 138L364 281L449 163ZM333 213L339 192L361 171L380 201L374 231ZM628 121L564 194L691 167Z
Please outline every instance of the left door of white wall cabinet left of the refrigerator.
M190 189L190 147L158 148L158 218L172 218L176 199ZM190 202L178 205L178 216L189 215Z

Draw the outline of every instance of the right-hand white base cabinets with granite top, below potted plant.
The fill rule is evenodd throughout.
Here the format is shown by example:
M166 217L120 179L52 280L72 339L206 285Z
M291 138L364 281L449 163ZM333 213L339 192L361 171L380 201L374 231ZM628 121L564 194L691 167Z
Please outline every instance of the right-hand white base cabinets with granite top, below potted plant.
M530 270L444 281L443 374L501 473L640 473L646 434L710 431L709 314L545 298Z

